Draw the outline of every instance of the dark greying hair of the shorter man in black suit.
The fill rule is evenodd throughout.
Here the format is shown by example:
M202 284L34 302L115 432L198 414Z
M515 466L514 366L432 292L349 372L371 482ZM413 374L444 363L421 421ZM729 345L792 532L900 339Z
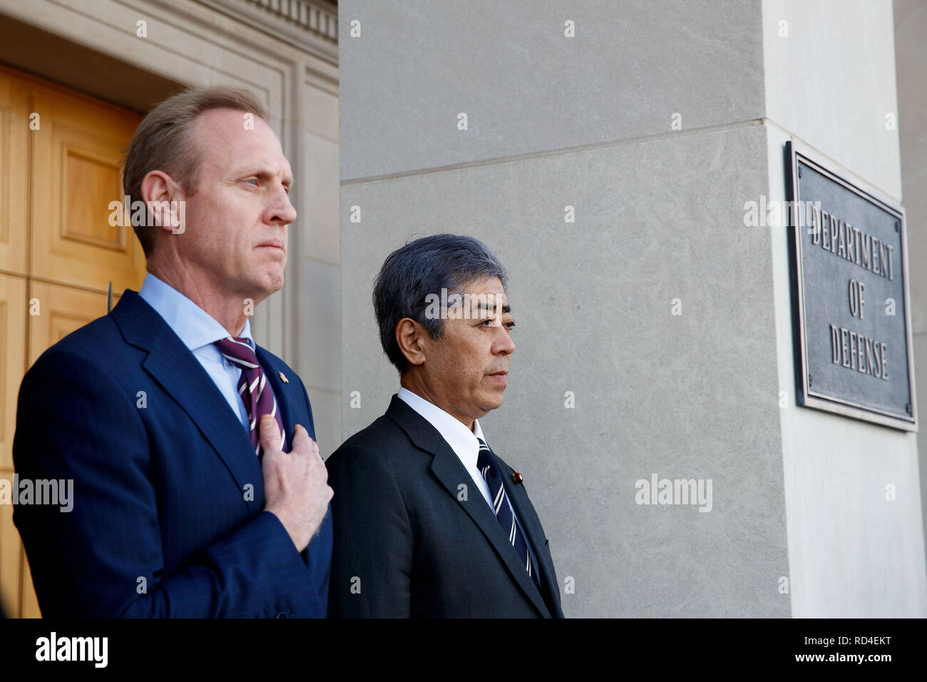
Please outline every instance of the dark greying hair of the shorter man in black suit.
M505 290L502 262L473 237L432 235L410 241L387 256L374 283L374 313L383 351L400 374L409 366L396 342L400 320L408 317L432 339L440 339L444 320L425 315L426 296L442 289L459 292L468 282L483 277L499 277Z

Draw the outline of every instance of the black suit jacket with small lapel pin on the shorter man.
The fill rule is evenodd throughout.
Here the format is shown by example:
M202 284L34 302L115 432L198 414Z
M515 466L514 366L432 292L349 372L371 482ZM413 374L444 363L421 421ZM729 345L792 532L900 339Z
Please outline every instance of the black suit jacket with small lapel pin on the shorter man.
M496 460L541 592L451 445L394 395L385 416L326 462L335 491L329 615L563 618L544 529L525 485Z

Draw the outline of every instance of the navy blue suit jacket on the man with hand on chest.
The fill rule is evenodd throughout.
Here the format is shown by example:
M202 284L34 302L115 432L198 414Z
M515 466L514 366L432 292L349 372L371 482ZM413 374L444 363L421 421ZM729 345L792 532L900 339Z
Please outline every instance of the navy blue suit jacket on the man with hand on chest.
M257 355L287 437L301 424L314 438L296 372L260 346ZM13 512L45 616L326 614L330 508L300 554L263 510L248 431L133 290L27 372L13 459L20 480L73 480L70 512Z

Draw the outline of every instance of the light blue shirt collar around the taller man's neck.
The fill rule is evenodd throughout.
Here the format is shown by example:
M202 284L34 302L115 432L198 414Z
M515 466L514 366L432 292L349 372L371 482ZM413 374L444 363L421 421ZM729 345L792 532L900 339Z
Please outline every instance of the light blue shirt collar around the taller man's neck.
M184 345L190 351L211 345L213 341L226 339L229 336L228 329L222 327L209 313L151 273L146 274L138 295L164 318L164 321L180 337L180 340L184 341ZM251 348L254 348L254 339L251 338L251 321L247 317L245 327L238 338L248 339Z

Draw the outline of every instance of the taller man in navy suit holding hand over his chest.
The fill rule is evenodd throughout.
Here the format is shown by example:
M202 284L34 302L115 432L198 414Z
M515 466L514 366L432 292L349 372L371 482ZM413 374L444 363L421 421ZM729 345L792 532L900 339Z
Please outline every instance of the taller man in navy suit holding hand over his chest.
M309 397L248 323L283 286L296 219L266 119L229 88L146 116L123 173L147 209L145 282L22 381L19 479L73 482L70 511L14 509L45 616L326 614L332 490Z

